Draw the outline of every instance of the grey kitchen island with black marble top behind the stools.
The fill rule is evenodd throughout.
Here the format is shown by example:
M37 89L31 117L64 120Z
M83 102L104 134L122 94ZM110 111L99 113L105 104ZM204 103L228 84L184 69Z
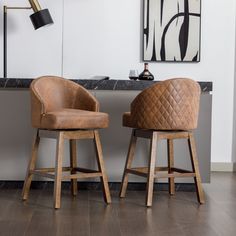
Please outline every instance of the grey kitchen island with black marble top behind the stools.
M120 182L129 145L131 129L122 127L122 114L129 111L134 97L143 89L156 81L131 80L73 80L85 88L99 100L100 110L110 115L108 129L101 130L105 165L110 182ZM25 177L28 159L31 153L32 136L35 130L30 121L29 86L32 79L0 79L1 133L0 133L0 180L21 181ZM199 82L201 101L199 125L195 131L200 172L203 183L210 181L211 156L211 110L212 83ZM175 164L181 168L190 168L186 140L175 142ZM54 166L55 141L43 140L40 149L39 167ZM138 142L137 158L134 165L147 163L149 143L147 140ZM65 148L65 165L69 163L68 146ZM166 143L158 145L157 165L166 165ZM95 162L93 143L90 140L78 142L78 164L93 168ZM96 181L96 180L91 180ZM144 182L142 177L130 176L131 182ZM161 180L165 181L165 180ZM177 179L176 182L188 182L188 179ZM192 180L190 179L189 182Z

